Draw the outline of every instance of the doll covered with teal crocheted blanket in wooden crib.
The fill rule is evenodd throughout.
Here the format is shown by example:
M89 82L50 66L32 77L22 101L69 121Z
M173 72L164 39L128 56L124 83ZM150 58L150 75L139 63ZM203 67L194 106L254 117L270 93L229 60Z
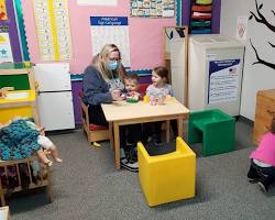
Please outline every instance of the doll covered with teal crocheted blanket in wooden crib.
M41 135L42 130L23 118L15 118L4 124L0 123L0 158L3 161L21 160L36 153L40 162L46 166L53 165L47 154L51 154L55 162L62 162L53 142Z

